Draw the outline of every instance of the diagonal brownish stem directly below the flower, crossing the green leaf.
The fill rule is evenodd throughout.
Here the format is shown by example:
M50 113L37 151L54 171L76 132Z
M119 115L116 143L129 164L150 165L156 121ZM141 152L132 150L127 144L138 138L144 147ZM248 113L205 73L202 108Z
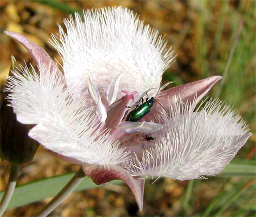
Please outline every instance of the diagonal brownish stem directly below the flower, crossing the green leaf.
M85 178L82 166L73 176L73 178L65 185L65 187L49 202L46 207L37 215L38 217L48 216L62 201L81 183Z

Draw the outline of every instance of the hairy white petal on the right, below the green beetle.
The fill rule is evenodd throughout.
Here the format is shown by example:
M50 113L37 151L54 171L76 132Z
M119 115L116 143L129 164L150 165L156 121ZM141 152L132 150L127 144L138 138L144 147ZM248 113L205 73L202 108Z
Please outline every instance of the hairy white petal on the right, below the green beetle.
M167 127L153 147L125 164L131 173L200 179L218 174L232 160L251 136L246 122L219 99L210 99L194 111L195 106L178 99L170 115L162 115Z

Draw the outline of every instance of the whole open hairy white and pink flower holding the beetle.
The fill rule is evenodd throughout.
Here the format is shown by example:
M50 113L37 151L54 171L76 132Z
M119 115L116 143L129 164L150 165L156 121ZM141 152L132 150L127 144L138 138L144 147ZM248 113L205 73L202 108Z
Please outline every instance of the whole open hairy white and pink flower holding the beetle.
M41 47L6 32L27 48L39 71L25 66L13 72L11 106L19 122L36 125L30 137L82 164L95 183L126 182L140 210L146 176L189 180L218 174L251 136L245 121L218 99L196 109L220 76L160 87L173 52L129 9L87 10L64 24L66 33L59 26L51 40L64 75ZM156 101L148 114L126 121L147 96Z

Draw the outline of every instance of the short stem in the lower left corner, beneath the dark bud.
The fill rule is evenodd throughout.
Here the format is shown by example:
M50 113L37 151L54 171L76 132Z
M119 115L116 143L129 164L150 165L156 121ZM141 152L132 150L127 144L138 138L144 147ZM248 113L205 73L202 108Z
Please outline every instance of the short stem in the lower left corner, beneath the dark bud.
M9 201L15 190L17 180L18 180L18 164L11 163L8 184L4 192L4 196L0 203L0 217L3 215L4 211L6 210L9 204Z

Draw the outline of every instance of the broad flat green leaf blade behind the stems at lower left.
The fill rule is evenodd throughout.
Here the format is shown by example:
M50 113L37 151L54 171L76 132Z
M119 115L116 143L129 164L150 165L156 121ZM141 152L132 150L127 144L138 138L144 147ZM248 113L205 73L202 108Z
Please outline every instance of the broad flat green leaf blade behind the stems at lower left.
M61 189L63 189L65 184L71 180L73 175L74 173L67 173L18 186L14 191L13 197L10 200L7 209L19 207L35 201L46 199L48 197L54 197ZM110 183L117 184L121 183L121 181L115 180L111 181ZM90 178L86 177L75 189L75 191L97 187L100 187L100 185L96 185ZM0 199L2 198L3 194L4 192L1 191Z

